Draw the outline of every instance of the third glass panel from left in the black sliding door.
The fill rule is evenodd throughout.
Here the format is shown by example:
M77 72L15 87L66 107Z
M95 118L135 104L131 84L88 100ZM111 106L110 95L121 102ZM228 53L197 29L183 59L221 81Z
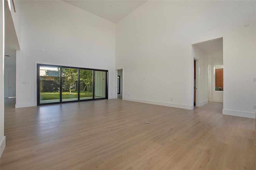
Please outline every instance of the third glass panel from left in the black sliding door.
M80 100L92 99L93 71L80 69Z

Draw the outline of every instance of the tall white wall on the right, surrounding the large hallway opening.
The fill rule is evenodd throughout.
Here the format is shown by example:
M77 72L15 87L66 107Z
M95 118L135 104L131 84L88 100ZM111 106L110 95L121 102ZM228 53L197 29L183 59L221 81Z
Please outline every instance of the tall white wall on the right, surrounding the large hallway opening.
M147 1L120 20L115 61L126 70L124 99L192 109L191 44L220 37L223 113L255 117L255 1Z

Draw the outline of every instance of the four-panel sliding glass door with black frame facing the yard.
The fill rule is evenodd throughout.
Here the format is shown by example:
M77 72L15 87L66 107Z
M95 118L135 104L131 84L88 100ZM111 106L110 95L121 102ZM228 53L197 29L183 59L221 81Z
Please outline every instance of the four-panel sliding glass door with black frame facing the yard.
M37 65L38 105L107 99L107 70Z

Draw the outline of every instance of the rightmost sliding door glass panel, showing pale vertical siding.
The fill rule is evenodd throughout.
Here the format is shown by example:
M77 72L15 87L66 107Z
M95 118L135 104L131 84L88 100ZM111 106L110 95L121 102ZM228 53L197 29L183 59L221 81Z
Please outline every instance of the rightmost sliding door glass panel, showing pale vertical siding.
M106 72L95 71L95 99L106 97Z

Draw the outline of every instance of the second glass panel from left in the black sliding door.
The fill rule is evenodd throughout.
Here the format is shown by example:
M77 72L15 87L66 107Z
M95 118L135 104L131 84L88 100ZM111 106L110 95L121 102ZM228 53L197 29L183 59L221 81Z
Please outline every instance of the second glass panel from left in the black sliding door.
M62 68L62 101L78 100L78 69Z

